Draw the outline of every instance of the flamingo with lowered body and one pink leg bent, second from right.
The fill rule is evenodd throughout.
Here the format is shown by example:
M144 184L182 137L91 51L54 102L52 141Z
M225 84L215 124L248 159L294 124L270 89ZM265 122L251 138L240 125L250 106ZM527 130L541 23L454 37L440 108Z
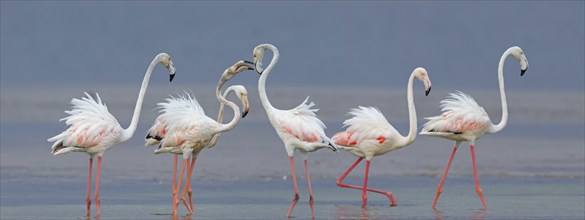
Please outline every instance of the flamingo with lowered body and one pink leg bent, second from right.
M370 170L370 161L374 156L380 156L388 152L401 149L410 145L416 138L416 110L414 108L414 101L412 95L412 84L414 78L419 79L425 86L425 96L431 91L431 80L427 71L422 68L416 68L410 74L408 79L408 86L406 89L406 99L408 102L408 115L410 121L410 129L408 135L403 137L390 125L388 120L374 107L354 108L349 111L352 116L343 122L347 127L346 131L342 131L333 136L333 142L339 148L350 152L358 157L358 159L337 179L337 186L362 190L362 206L367 205L368 197L366 191L380 193L386 195L391 201L391 206L396 206L396 200L391 192L384 192L378 189L368 188L368 173ZM366 173L364 176L363 187L354 186L343 183L343 179L357 166L364 158L366 158Z

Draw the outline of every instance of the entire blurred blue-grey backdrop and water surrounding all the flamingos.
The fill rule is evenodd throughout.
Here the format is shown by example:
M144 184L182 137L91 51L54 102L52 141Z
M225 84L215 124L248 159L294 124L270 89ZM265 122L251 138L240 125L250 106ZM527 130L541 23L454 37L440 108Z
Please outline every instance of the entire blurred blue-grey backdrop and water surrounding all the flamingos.
M318 218L585 217L583 1L0 1L0 6L2 219L83 217L87 156L54 157L46 139L64 129L58 119L83 91L99 92L126 127L143 74L159 52L172 56L177 76L169 83L166 71L155 69L134 138L104 156L101 198L105 218L168 219L152 213L169 212L172 157L142 147L155 103L188 90L215 115L220 73L251 59L260 43L276 45L281 54L268 80L272 103L292 108L310 95L329 135L342 129L346 112L358 105L379 107L406 133L405 84L418 66L427 68L433 82L428 97L415 83L419 127L422 117L439 114L440 99L454 90L473 95L497 122L501 54L517 45L530 62L520 77L518 64L507 60L508 126L476 142L490 212L477 210L468 148L453 161L442 211L431 211L453 143L419 136L408 148L372 162L371 185L396 194L400 205L394 209L372 195L364 211L359 192L335 186L355 160L352 155L311 154ZM245 72L230 82L248 88L252 106L236 129L197 160L192 181L201 210L197 218L275 219L288 208L290 167L259 103L257 80L258 74ZM306 218L300 162L297 158L302 201L295 215ZM361 183L363 168L348 181Z

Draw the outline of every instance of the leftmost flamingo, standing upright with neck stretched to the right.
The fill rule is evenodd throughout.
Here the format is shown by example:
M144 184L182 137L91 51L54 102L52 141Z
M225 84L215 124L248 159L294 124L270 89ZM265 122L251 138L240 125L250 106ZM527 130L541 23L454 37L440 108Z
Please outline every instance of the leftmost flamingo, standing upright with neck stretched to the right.
M156 66L160 63L169 71L170 81L175 76L175 65L171 61L171 57L166 53L160 53L152 60L146 74L142 81L142 86L134 108L134 115L130 126L123 129L116 118L110 114L108 107L102 102L100 96L96 93L94 99L87 92L86 97L81 99L73 98L71 100L71 110L65 111L69 116L61 119L69 126L67 130L62 133L47 139L49 142L54 142L52 146L53 155L65 154L69 152L84 152L89 154L89 175L87 178L87 215L90 215L91 199L91 171L93 158L97 155L97 174L95 184L94 200L96 202L97 214L101 214L99 187L100 187L100 171L102 164L102 155L105 151L114 145L123 143L130 139L136 131L138 119L140 118L140 110L142 109L142 101L144 94L148 87L150 75Z

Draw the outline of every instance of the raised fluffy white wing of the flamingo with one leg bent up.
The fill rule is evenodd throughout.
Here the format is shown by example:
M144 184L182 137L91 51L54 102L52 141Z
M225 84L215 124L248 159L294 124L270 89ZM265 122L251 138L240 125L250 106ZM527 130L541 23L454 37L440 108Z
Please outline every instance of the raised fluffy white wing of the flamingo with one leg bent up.
M383 144L397 133L377 108L359 106L351 109L349 114L352 117L343 122L343 126L347 127L346 131L339 132L332 138L335 144L352 147L366 140Z

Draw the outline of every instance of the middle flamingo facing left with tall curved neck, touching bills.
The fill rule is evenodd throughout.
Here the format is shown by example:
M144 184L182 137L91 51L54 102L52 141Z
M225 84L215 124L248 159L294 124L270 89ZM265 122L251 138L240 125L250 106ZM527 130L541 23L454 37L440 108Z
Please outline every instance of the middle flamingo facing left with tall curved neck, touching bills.
M270 64L264 69L262 67L262 58L266 50L272 51L272 60ZM290 217L293 208L299 200L299 191L297 187L297 178L294 166L294 151L298 150L304 158L305 173L307 175L307 184L309 186L309 205L311 207L311 215L315 217L315 208L313 201L313 191L311 189L311 178L309 175L309 168L307 164L307 153L319 150L321 148L330 148L337 151L337 146L325 135L325 124L317 118L315 112L318 109L311 109L315 103L307 104L309 97L305 99L299 106L290 110L280 110L272 106L266 95L266 79L268 75L278 62L278 49L271 44L260 44L254 48L254 67L256 71L261 74L258 81L258 93L260 94L260 101L268 119L276 130L276 133L284 143L286 153L288 154L290 166L292 169L292 178L294 184L294 199L290 205L287 217Z

